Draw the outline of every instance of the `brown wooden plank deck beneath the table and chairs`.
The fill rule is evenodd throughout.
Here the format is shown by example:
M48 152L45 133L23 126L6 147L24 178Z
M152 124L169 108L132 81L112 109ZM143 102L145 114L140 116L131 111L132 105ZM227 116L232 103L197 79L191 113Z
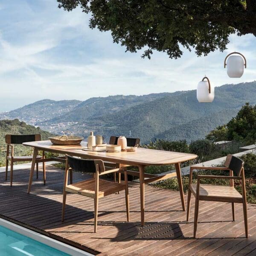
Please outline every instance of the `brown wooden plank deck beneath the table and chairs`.
M73 173L73 181L89 176ZM66 219L61 223L64 170L47 168L34 178L27 194L29 170L14 172L13 186L0 173L0 216L99 255L256 255L256 206L248 205L249 238L244 238L242 205L236 204L236 221L231 205L200 202L198 239L192 238L192 214L186 223L176 191L145 186L145 226L140 226L139 184L130 183L131 221L127 223L125 195L99 200L98 232L93 233L93 199L67 195ZM117 198L123 200L116 200Z

